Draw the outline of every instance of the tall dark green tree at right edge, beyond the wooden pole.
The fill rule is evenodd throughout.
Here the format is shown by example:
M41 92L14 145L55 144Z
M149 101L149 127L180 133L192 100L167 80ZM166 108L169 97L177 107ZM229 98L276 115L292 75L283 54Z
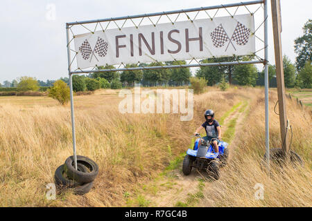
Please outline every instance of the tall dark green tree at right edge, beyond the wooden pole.
M311 62L312 57L312 19L309 19L302 28L304 35L295 39L295 52L297 53L295 66L298 72L304 68L306 61Z

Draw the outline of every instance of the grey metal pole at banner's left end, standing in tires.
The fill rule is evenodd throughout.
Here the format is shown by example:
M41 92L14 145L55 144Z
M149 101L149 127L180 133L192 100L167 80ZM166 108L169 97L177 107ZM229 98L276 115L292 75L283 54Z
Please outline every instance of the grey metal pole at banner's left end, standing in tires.
M67 37L67 59L69 72L69 88L71 97L71 131L73 134L73 162L75 162L75 169L77 169L77 153L76 153L76 133L75 133L75 117L73 114L73 74L71 74L71 49L69 46L69 25L66 23L66 37Z

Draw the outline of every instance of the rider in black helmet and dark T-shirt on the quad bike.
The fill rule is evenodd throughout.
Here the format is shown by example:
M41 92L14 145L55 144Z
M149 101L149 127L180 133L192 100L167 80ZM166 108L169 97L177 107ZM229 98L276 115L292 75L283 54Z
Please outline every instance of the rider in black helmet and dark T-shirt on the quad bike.
M205 111L205 119L206 121L202 126L196 129L194 135L198 134L202 128L205 128L207 136L202 137L202 139L213 142L214 144L214 151L218 153L218 140L221 140L221 127L220 124L214 119L214 111L207 110ZM218 137L218 140L216 139Z

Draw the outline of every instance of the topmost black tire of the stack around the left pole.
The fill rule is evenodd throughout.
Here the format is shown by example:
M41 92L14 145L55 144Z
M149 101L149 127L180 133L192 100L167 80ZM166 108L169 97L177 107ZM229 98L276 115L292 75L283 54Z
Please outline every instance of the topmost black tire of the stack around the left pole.
M64 170L66 171L68 177L77 182L89 183L93 182L98 175L98 164L88 157L77 155L77 164L83 164L87 167L89 171L77 171L73 166L73 156L68 157L64 163Z

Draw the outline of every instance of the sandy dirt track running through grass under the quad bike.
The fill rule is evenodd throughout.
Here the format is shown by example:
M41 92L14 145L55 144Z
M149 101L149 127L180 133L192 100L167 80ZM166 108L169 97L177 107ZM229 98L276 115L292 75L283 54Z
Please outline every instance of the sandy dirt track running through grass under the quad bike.
M235 133L232 137L232 142L229 143L229 163L232 159L231 153L235 151L235 147L238 145L235 142L235 137L241 126L243 126L245 112L249 108L248 101L245 100L245 102L226 117L221 126L224 134L229 127L229 123L232 120L236 120ZM220 179L224 175L226 175L224 169L220 169ZM207 172L198 171L197 169L193 169L190 175L184 175L182 173L182 164L180 163L177 169L168 172L168 174L154 180L150 184L146 184L146 186L153 186L152 188L155 191L146 191L144 198L147 200L148 206L183 206L184 204L187 204L187 206L209 206L207 204L200 205L200 194L202 194L202 190L207 191L207 186L216 182L218 181L211 179Z

